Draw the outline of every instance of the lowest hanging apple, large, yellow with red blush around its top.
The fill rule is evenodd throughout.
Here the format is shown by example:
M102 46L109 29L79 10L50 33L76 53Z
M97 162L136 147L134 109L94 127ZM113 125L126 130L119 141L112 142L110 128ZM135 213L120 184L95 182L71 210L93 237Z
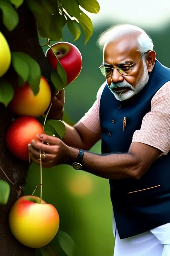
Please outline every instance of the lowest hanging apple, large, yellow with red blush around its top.
M48 244L59 228L59 215L52 204L37 196L22 196L15 201L9 213L9 227L22 244L41 248Z

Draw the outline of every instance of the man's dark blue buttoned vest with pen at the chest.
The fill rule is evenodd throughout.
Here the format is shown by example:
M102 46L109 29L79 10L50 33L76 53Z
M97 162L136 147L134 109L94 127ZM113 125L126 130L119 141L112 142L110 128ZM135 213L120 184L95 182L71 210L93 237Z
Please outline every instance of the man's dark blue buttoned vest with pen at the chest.
M128 100L117 100L106 84L100 100L102 153L128 152L134 131L140 130L151 110L153 96L169 80L170 69L156 60L147 85ZM110 179L109 183L121 239L170 222L170 153L158 158L140 179ZM142 190L146 188L151 189ZM128 193L137 190L142 191Z

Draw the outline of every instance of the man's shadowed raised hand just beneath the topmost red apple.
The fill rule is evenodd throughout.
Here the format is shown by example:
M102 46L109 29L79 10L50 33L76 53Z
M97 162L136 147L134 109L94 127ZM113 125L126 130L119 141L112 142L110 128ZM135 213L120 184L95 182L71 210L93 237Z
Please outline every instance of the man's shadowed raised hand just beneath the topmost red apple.
M62 119L62 110L65 102L65 91L62 89L57 95L52 95L51 102L52 106L48 113L47 119ZM46 113L45 113L46 114Z

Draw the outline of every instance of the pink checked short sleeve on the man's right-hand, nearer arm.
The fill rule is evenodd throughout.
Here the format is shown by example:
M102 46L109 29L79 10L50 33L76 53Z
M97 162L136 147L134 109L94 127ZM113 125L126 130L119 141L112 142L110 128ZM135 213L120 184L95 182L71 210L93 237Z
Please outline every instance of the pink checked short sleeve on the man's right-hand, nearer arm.
M170 150L170 81L153 96L151 110L143 117L140 130L133 134L132 142L155 147L167 155Z

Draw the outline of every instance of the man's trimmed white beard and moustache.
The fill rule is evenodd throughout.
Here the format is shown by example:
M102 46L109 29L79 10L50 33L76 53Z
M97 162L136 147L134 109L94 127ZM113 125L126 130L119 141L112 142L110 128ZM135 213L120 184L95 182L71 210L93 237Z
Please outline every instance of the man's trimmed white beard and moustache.
M132 96L140 92L143 89L143 87L147 84L148 80L149 74L145 60L143 59L143 74L139 77L139 80L137 81L136 86L134 88L127 81L111 83L110 87L108 87L117 100L123 101L131 98Z

